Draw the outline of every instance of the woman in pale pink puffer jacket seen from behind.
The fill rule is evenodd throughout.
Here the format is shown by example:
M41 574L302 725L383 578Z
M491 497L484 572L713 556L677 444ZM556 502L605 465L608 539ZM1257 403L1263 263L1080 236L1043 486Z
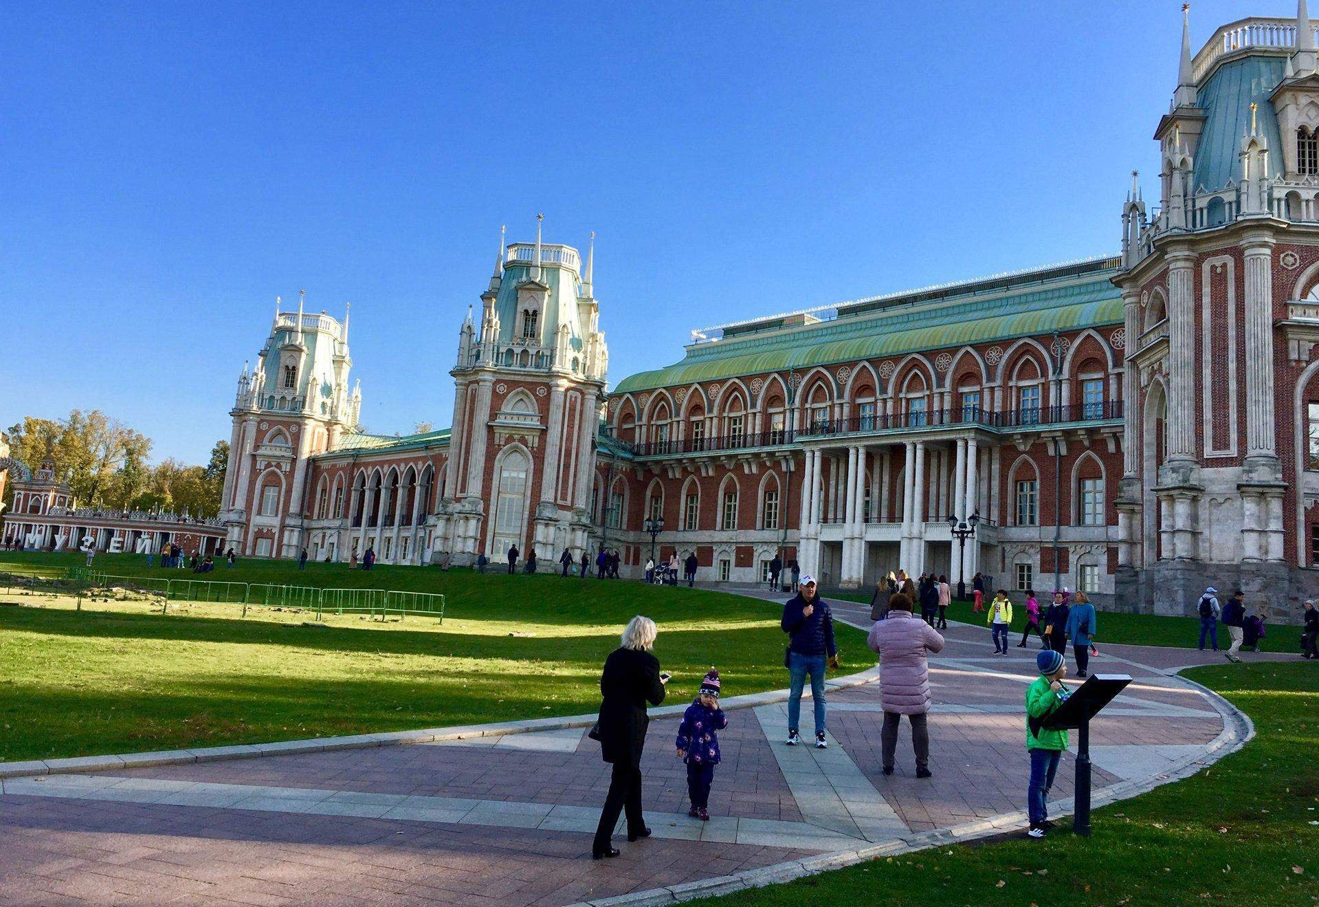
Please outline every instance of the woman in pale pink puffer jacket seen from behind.
M911 614L911 598L898 593L889 601L889 617L877 621L867 638L880 655L880 702L884 730L880 734L884 774L893 774L893 753L898 745L902 716L911 723L915 749L915 776L930 778L930 733L925 716L930 710L927 652L943 648L943 636Z

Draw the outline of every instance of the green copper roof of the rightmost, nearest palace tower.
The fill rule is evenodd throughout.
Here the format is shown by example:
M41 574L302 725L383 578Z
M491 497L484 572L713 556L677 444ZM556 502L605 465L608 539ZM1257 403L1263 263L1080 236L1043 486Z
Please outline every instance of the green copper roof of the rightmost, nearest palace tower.
M1196 100L1204 110L1204 128L1195 148L1195 191L1216 191L1228 181L1241 181L1241 137L1250 131L1250 104L1256 104L1256 128L1269 143L1270 177L1282 165L1278 118L1269 95L1282 81L1282 57L1242 57L1224 63L1200 88Z

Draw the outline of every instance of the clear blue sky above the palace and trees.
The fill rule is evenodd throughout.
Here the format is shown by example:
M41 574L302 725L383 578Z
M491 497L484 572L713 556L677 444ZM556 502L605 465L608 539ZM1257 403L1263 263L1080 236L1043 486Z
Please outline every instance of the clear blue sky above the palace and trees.
M368 8L369 7L369 8ZM497 231L584 248L613 382L689 331L1116 252L1181 4L9 5L0 426L204 461L274 297L372 432L448 424ZM1200 0L1192 51L1278 0Z

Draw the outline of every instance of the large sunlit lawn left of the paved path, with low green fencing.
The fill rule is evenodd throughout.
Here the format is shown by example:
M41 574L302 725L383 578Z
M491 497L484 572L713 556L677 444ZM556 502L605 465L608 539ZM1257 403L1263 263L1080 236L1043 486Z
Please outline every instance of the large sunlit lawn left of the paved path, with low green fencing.
M82 558L0 556L13 560ZM96 566L148 573L138 556L98 556ZM346 615L318 627L288 611L240 619L239 606L171 603L162 615L146 603L88 601L75 611L70 601L0 591L20 605L0 607L0 760L592 712L600 665L634 614L660 624L670 701L694 696L711 664L729 696L786 685L777 606L724 593L427 568L299 572L277 561L240 561L215 576L441 591L447 610L443 624ZM844 672L869 667L863 635L839 634L844 652L861 659Z

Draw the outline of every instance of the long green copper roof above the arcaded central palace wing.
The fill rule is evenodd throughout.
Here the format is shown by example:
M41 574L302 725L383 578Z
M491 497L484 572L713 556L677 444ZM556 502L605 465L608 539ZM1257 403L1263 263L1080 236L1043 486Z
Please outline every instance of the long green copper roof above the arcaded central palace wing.
M630 375L612 392L1116 325L1122 322L1122 300L1109 283L1113 273L1034 283L1024 277L1022 285L995 293L959 296L954 286L939 301L905 305L900 298L878 312L844 309L832 321L695 343L682 362Z

